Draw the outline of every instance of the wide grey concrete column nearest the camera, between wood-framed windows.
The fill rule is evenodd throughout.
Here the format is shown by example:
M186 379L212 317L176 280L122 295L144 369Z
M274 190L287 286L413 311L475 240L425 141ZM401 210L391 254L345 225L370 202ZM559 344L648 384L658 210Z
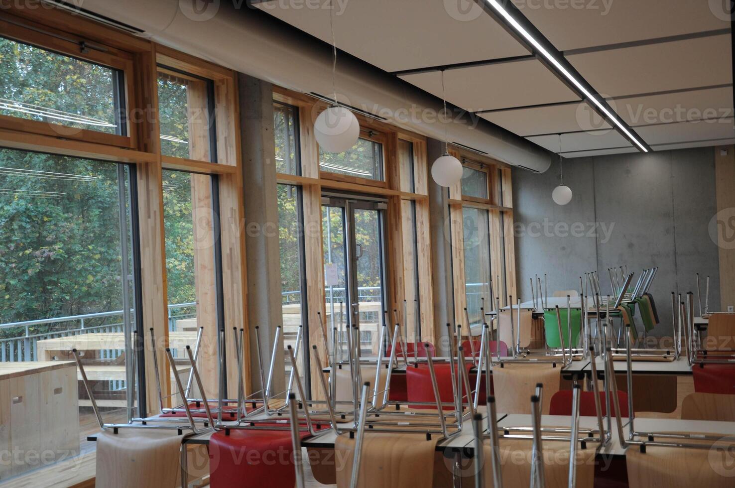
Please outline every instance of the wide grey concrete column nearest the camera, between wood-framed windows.
M265 376L276 327L282 325L276 150L273 143L273 86L237 75L240 91L243 180L245 182L245 254L248 267L248 329L253 389L261 387L255 327L259 326ZM283 337L279 341L283 350ZM284 356L276 355L273 392L284 390Z

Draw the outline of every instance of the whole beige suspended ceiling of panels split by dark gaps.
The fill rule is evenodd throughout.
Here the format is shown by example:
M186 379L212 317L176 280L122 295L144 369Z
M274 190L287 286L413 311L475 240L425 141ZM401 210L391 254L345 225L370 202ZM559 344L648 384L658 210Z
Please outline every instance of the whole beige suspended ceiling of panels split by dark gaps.
M565 157L637 151L471 0L332 1L337 47L377 68L437 97L443 70L451 104ZM735 143L723 2L513 1L654 151ZM327 5L257 7L331 43Z

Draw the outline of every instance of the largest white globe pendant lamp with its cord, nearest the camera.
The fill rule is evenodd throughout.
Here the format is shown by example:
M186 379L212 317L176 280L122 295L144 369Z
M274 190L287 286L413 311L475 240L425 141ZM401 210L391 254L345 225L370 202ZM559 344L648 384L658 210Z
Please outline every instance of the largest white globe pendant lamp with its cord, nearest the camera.
M334 104L319 114L314 121L314 136L324 151L340 153L348 151L360 135L360 124L351 110L337 105L335 73L337 71L337 42L334 40L332 23L332 2L329 1L329 29L331 29L331 90Z

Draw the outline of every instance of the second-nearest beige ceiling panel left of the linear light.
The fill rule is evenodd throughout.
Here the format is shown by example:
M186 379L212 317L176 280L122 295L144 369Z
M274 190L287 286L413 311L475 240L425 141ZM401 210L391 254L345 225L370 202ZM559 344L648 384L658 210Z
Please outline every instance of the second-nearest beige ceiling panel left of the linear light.
M435 96L442 96L440 71L401 78ZM579 100L567 85L535 59L447 70L444 85L447 101L471 112Z

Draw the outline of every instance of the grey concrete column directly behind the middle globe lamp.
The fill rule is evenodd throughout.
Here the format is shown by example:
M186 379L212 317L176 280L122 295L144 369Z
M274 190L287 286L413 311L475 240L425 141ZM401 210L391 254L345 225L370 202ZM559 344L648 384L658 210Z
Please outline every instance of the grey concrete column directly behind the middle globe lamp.
M429 173L434 160L444 154L444 143L429 139L426 143L429 159ZM440 187L429 176L429 220L431 229L431 275L434 290L434 331L437 340L437 354L449 352L447 323L453 322L454 295L452 280L452 250L449 225L449 190Z

